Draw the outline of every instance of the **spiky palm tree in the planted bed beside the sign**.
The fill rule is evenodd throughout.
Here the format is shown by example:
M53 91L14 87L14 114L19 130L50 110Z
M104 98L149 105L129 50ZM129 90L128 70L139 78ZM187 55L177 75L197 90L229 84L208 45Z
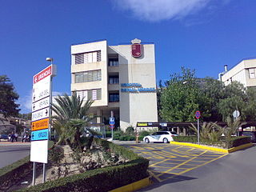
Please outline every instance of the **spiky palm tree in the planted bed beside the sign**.
M82 143L82 134L84 134L85 126L96 118L95 115L88 114L93 101L84 102L84 98L80 98L76 92L72 96L58 95L55 101L57 104L52 105L52 110L56 114L53 116L53 124L59 135L58 144L67 142L72 149L83 150L85 145ZM94 134L89 128L87 130ZM93 140L93 135L90 140Z

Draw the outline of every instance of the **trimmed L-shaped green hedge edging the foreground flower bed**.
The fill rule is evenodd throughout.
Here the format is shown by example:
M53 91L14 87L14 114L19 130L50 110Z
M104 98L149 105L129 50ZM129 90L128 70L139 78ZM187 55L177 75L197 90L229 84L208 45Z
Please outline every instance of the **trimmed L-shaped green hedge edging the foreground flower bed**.
M131 150L106 140L95 138L95 142L102 145L105 150L110 149L116 154L129 158L130 162L88 170L82 174L70 175L18 191L109 191L148 177L149 160L146 158L139 157Z

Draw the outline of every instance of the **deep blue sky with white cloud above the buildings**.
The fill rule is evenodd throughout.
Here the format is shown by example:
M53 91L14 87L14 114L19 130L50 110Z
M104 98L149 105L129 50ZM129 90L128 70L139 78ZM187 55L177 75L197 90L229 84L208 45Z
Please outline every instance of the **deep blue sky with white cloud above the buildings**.
M106 39L154 42L156 75L166 81L181 67L198 78L256 57L255 0L0 0L0 75L31 111L32 79L54 58L54 94L70 94L70 46Z

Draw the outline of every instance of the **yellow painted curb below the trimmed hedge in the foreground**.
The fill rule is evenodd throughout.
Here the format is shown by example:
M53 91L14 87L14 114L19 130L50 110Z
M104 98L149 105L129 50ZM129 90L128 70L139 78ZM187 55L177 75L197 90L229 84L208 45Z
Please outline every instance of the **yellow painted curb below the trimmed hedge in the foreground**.
M126 186L121 186L117 189L110 190L109 192L132 192L134 190L142 189L145 186L149 186L151 184L150 177L143 178L142 180L139 180L138 182L130 183Z

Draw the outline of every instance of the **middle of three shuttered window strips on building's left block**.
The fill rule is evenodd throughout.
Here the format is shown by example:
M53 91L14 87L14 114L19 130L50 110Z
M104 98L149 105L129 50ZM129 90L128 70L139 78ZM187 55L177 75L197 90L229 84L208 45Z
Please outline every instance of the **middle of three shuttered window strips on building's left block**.
M74 74L74 82L98 82L102 80L101 70L90 70Z

